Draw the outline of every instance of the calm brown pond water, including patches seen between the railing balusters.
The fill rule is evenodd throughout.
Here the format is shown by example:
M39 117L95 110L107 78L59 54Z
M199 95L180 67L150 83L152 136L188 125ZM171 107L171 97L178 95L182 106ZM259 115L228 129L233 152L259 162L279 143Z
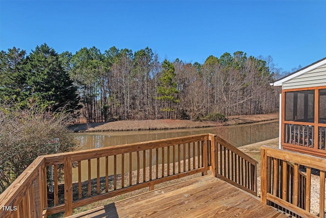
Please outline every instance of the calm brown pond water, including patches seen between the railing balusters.
M188 135L196 135L203 133L212 133L219 135L225 140L229 141L236 147L244 146L246 144L264 141L279 136L279 123L262 122L249 125L237 125L227 127L215 128L195 128L195 129L176 129L176 130L150 130L150 131L120 131L120 132L95 132L95 133L76 133L79 140L79 148L77 150L95 149L116 146L118 144L128 144L141 141L158 140L165 138L174 138ZM182 153L182 151L181 151ZM135 155L135 154L133 154ZM149 154L147 154L149 155ZM141 157L142 158L142 153ZM159 156L159 162L160 160ZM165 155L167 158L167 155ZM137 157L133 156L133 170L137 166ZM100 176L105 176L105 158L100 158ZM128 165L128 155L125 157L125 167ZM109 157L109 165L113 164L113 157ZM121 156L117 156L117 163L121 165ZM82 181L87 180L87 160L82 161ZM155 164L155 160L153 160ZM91 177L96 178L96 159L91 160ZM126 169L127 170L127 169ZM118 167L117 173L121 173L121 168ZM109 169L109 175L113 174L113 168ZM78 169L72 169L73 181L78 181Z

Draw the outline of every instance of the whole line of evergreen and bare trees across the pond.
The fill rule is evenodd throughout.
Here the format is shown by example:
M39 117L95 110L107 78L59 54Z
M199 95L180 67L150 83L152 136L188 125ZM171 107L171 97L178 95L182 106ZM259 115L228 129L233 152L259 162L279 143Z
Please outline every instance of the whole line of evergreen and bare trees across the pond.
M1 51L0 70L1 100L64 108L89 123L261 114L279 105L279 90L269 85L279 76L273 59L240 51L200 64L159 62L149 47L58 54L42 44L29 55L16 47Z

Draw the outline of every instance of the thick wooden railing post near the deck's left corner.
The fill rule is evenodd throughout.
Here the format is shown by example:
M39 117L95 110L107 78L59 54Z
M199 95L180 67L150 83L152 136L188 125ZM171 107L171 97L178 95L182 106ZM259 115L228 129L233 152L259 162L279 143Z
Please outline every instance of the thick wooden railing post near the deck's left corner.
M72 215L72 163L71 156L64 158L65 170L65 216Z

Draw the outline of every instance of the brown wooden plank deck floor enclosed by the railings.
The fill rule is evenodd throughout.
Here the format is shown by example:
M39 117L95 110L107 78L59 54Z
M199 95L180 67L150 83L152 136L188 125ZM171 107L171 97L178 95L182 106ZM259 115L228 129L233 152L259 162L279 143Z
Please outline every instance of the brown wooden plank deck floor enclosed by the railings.
M69 217L288 217L211 175Z

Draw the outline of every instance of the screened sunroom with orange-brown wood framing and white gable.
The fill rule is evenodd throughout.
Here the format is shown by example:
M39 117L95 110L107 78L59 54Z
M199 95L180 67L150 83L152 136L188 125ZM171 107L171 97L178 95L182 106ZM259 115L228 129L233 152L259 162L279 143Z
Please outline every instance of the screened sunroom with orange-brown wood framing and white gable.
M282 86L280 147L326 158L326 58L273 85Z

